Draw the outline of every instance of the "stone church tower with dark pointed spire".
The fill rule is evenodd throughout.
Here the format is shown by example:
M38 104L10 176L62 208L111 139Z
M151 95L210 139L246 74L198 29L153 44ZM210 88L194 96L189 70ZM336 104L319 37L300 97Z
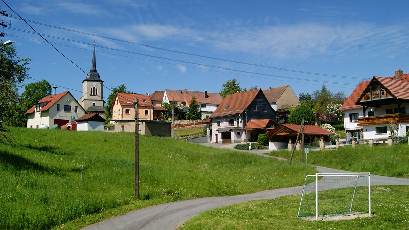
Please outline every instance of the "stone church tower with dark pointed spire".
M95 42L93 60L91 63L91 70L86 75L86 78L82 81L82 97L79 100L82 107L88 113L98 113L101 117L105 118L104 100L102 99L102 93L104 88L104 81L101 80L97 72L95 65Z

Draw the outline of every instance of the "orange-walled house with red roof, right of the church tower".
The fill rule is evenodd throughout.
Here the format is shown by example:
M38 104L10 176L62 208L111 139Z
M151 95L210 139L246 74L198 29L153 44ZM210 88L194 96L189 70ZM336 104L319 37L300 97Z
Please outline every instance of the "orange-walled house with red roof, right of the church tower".
M156 120L167 109L153 106L147 94L116 93L112 103L112 121L115 132L135 131L135 107L138 99L138 131L142 135L170 136L171 122Z

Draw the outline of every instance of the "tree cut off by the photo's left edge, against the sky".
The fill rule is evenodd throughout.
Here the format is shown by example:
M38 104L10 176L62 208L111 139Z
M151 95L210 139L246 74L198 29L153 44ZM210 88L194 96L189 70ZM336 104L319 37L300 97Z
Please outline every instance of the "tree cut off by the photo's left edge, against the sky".
M28 78L30 63L31 59L18 58L14 45L0 45L0 128L6 112L19 102L17 87Z

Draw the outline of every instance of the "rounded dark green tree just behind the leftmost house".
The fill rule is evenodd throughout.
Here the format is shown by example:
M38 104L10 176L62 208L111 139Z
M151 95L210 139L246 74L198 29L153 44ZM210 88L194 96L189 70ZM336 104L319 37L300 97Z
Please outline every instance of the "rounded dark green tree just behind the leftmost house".
M12 102L4 113L3 123L8 126L27 126L27 117L24 114L33 104L42 98L51 95L51 85L48 81L29 83L24 87L25 91L21 94L19 100Z

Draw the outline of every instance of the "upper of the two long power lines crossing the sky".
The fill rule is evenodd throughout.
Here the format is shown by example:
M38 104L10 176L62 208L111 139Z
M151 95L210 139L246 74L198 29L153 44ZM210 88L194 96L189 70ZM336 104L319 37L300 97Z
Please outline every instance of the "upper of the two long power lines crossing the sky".
M2 0L3 1L3 0ZM24 20L16 17L11 17L14 19L18 20ZM241 61L234 61L234 60L229 60L229 59L223 59L223 58L217 58L217 57L211 57L211 56L206 56L206 55L200 55L200 54L194 54L194 53L188 53L188 52L183 52L183 51L176 51L176 50L170 50L166 48L161 48L161 47L155 47L153 45L147 45L147 44L142 44L142 43L137 43L137 42L132 42L132 41L126 41L118 38L112 38L112 37L106 37L98 34L92 34L92 33L87 33L87 32L82 32L82 31L77 31L73 29L67 29L63 27L58 27L58 26L53 26L49 24L44 24L42 22L37 22L37 21L32 21L32 20L27 20L30 21L34 24L42 25L42 26L47 26L47 27L53 27L56 29L60 30L66 30L70 32L75 32L75 33L80 33L80 34L85 34L85 35L90 35L90 36L95 36L95 37L100 37L100 38L105 38L109 40L115 40L115 41L120 41L124 43L129 43L129 44L134 44L134 45L140 45L142 47L148 47L152 49L158 49L158 50L164 50L168 52L174 52L174 53L179 53L179 54L185 54L185 55L191 55L191 56L196 56L196 57L202 57L202 58L208 58L208 59L214 59L214 60L219 60L219 61L226 61L226 62L232 62L232 63L237 63L237 64L244 64L244 65L250 65L250 66L256 66L256 67L263 67L263 68L270 68L274 70L280 70L280 71L289 71L289 72L296 72L296 73L302 73L302 74L311 74L311 75L320 75L320 76L328 76L328 77L341 77L341 78L350 78L350 79L361 79L359 77L351 77L351 76L343 76L343 75L334 75L334 74L323 74L323 73L315 73L315 72L308 72L308 71L300 71L300 70L290 70L288 68L279 68L279 67L273 67L273 66L267 66L267 65L260 65L260 64L253 64L253 63L247 63L247 62L241 62Z

